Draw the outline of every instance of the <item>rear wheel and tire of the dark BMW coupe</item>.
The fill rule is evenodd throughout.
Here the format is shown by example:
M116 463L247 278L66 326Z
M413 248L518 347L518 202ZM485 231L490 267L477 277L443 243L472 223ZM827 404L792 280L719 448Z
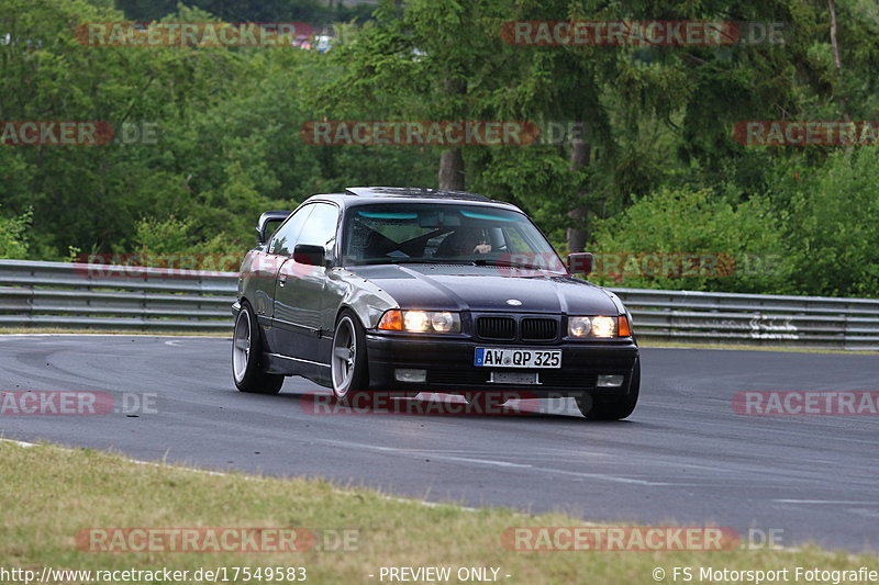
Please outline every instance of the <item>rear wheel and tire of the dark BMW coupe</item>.
M259 363L262 357L262 331L254 310L244 301L232 330L232 379L240 391L251 394L277 394L281 391L283 376L264 372Z

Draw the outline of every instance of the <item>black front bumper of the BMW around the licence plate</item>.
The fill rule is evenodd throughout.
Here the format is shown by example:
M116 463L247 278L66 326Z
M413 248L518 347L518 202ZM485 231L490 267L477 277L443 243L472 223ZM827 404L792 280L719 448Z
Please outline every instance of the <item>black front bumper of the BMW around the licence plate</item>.
M486 392L521 391L535 396L578 396L583 393L625 395L632 381L632 370L638 348L631 339L612 341L560 342L552 346L536 344L491 344L471 338L437 339L411 335L367 331L367 358L370 390ZM494 371L537 372L538 384L503 384L490 382L492 368L474 365L477 347L521 347L528 349L560 349L559 369L509 369ZM394 370L426 370L426 382L400 382ZM597 387L600 374L622 374L623 384Z

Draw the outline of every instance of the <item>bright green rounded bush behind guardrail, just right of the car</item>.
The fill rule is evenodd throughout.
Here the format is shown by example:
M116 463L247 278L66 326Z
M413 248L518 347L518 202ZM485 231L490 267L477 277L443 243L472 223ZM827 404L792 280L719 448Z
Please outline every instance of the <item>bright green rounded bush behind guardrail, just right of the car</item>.
M598 221L594 273L615 286L789 293L791 262L764 198L660 189Z

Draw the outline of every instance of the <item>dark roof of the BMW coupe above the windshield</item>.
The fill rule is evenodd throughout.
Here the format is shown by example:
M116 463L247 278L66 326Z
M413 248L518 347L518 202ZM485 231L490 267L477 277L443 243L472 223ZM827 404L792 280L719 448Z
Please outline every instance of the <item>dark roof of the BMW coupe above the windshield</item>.
M422 187L348 187L344 193L313 195L307 201L334 201L344 206L366 205L374 203L474 203L492 207L505 207L521 212L511 203L497 201L478 193L453 191L448 189L429 189Z

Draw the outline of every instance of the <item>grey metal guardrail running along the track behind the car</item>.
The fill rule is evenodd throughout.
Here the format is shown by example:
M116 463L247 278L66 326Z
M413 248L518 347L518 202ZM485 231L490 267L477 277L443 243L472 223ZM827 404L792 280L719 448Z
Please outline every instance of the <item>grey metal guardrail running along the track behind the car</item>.
M0 327L227 333L236 278L0 260ZM879 300L613 291L645 340L879 350Z

